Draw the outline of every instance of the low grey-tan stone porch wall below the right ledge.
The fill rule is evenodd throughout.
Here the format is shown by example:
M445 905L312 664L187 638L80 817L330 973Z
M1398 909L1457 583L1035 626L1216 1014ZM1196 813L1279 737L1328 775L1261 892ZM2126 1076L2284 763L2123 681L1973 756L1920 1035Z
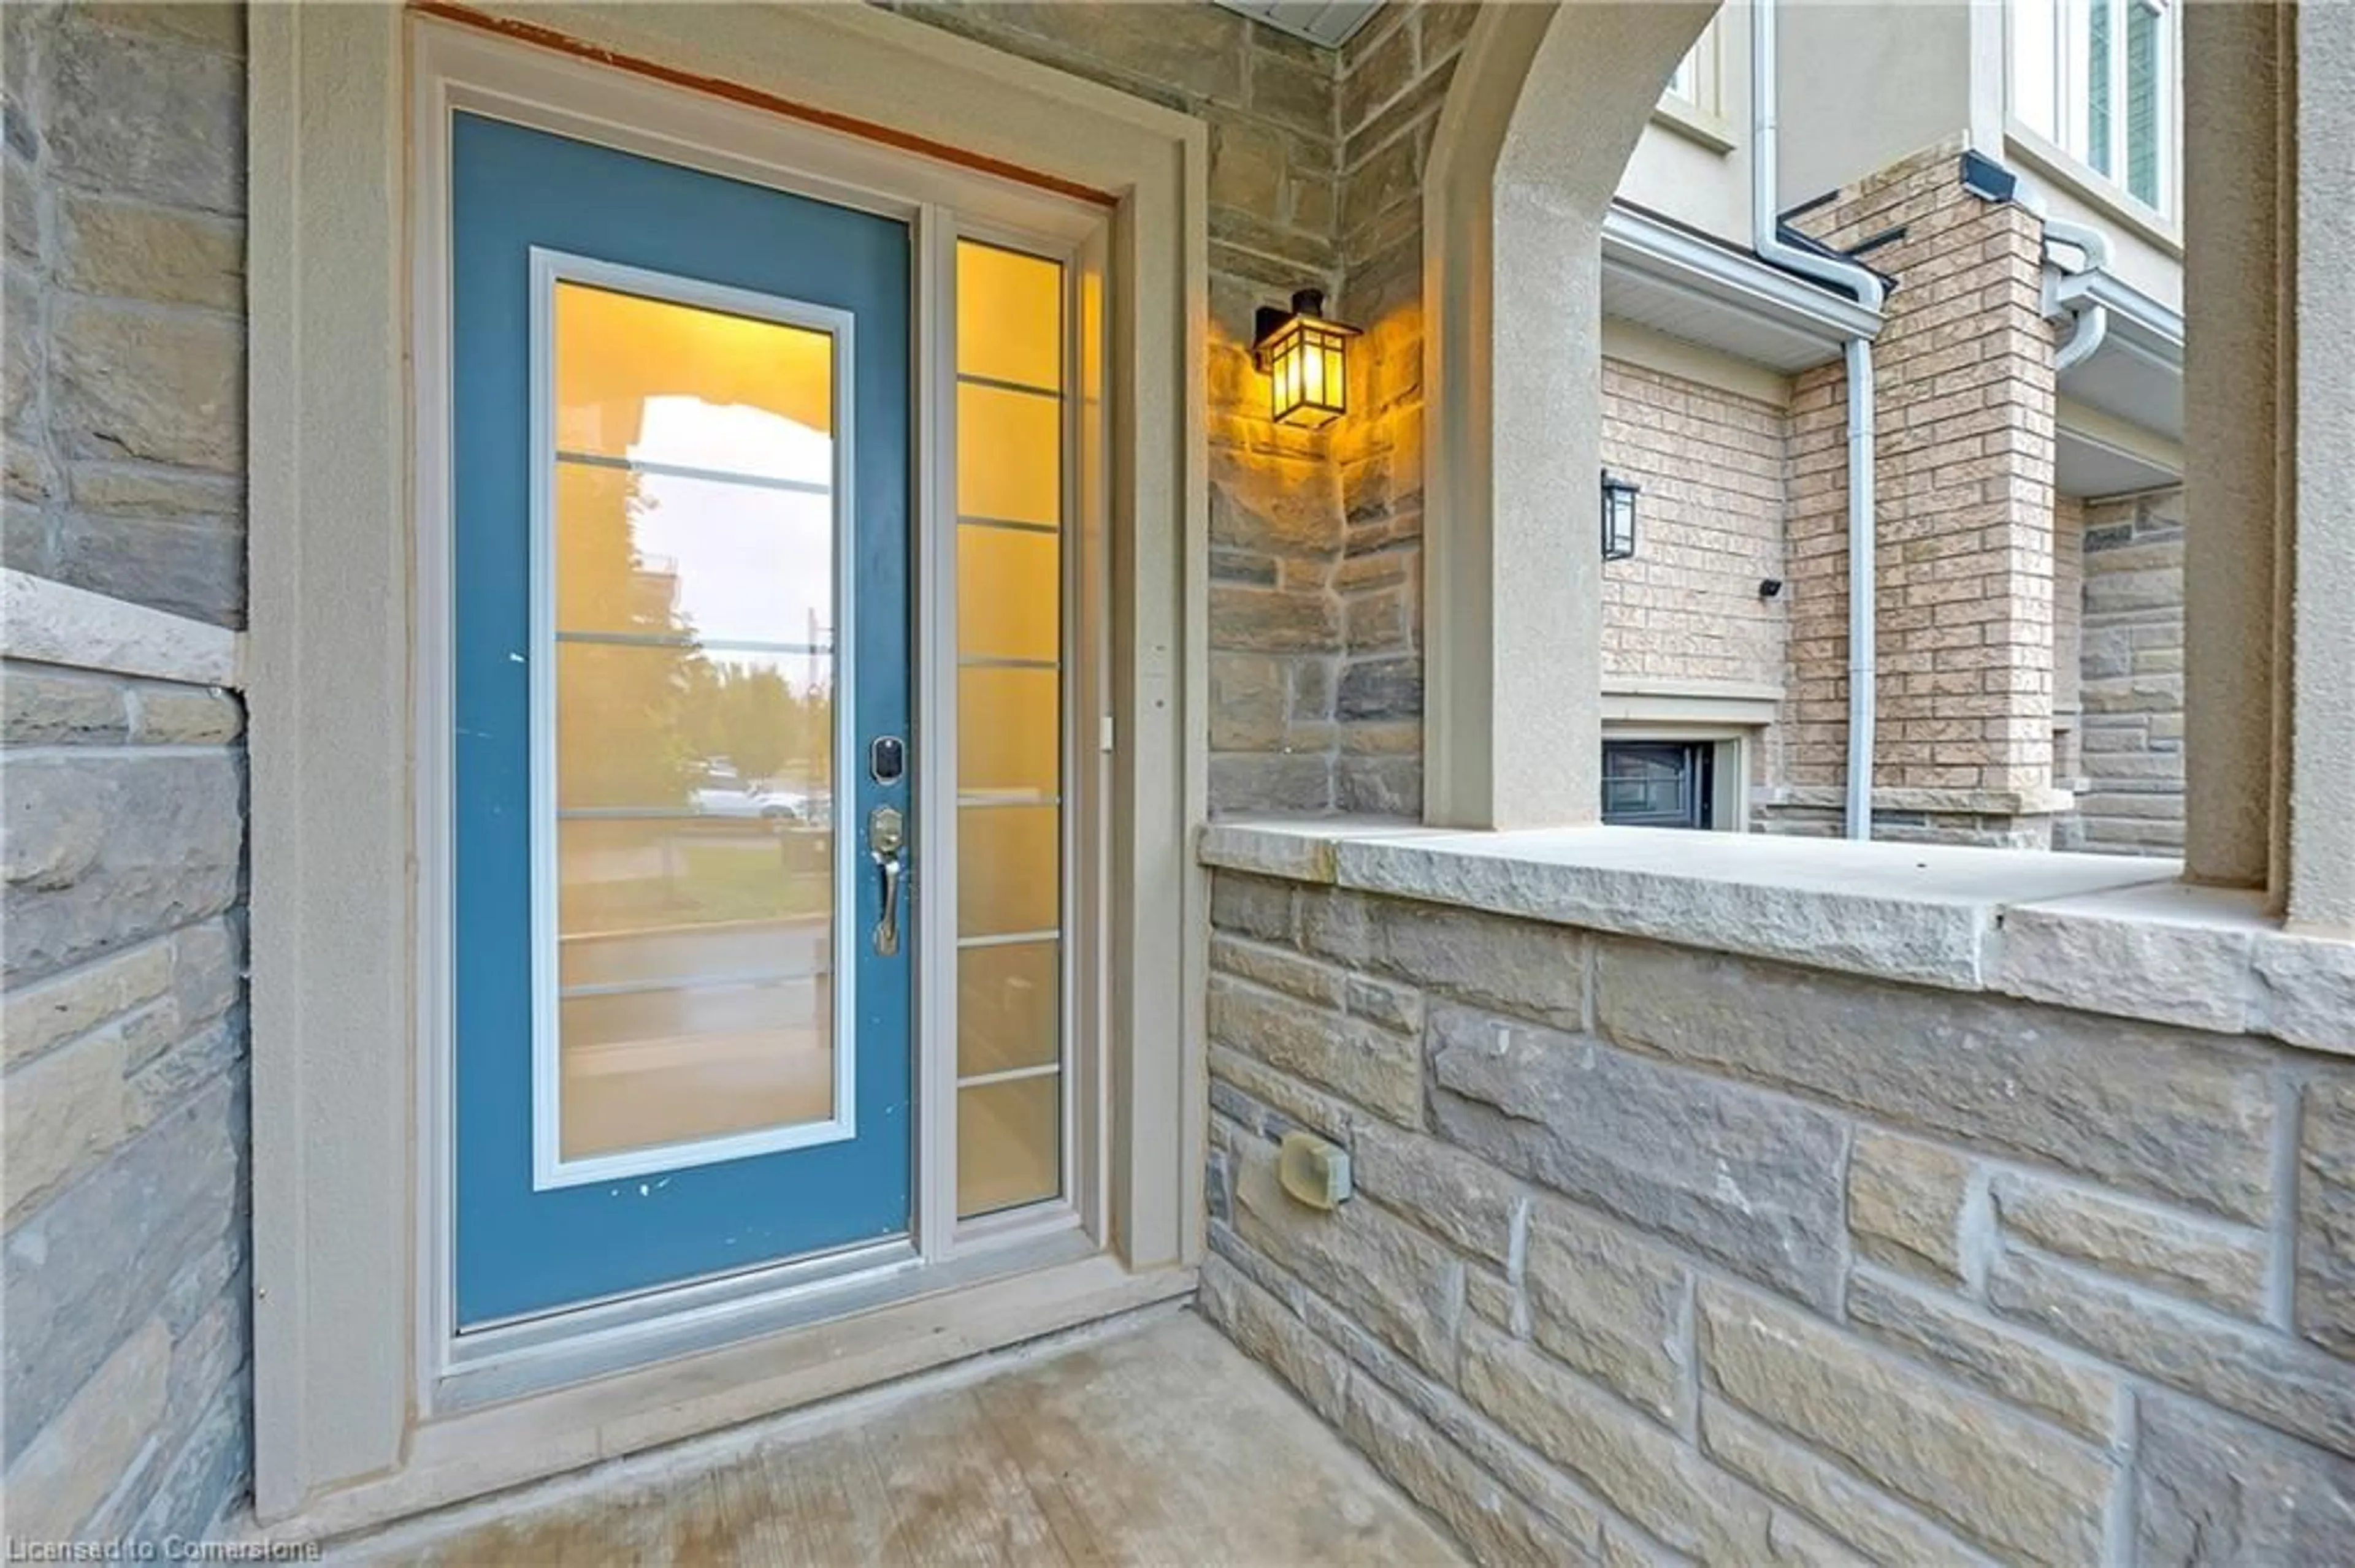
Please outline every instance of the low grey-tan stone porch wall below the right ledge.
M1203 1309L1479 1561L2355 1554L2355 1062L1225 871L1213 928Z

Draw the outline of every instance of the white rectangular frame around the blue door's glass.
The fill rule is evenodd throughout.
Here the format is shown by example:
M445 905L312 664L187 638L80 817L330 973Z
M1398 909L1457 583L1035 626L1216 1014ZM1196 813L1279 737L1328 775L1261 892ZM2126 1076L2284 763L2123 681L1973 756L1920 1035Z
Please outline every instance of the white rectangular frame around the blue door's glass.
M532 1189L582 1187L624 1177L655 1175L690 1165L714 1165L718 1161L747 1158L754 1154L777 1154L784 1149L808 1149L857 1137L857 961L864 951L857 937L857 866L843 833L853 824L855 803L848 789L843 758L855 756L855 659L848 657L855 643L853 596L843 591L853 556L850 542L850 313L829 306L758 294L751 290L676 278L615 261L596 261L535 245L532 264L532 320L530 320L530 452L532 452L532 499L530 499L530 730L532 730ZM560 1001L565 989L558 970L558 808L556 808L556 466L579 461L582 454L556 450L556 285L575 283L638 299L676 304L699 311L718 311L751 320L768 320L808 332L824 332L831 344L831 403L834 403L834 1114L824 1121L763 1128L756 1132L730 1132L725 1137L702 1137L645 1149L624 1149L589 1158L563 1158L563 1062L560 1062ZM596 459L601 466L626 466L655 473L669 464L641 464L631 459ZM702 476L714 478L714 476ZM725 476L737 478L737 476ZM829 487L775 480L775 487L803 492L827 492ZM568 633L563 640L615 640L596 633ZM624 638L657 643L659 638ZM810 645L775 645L777 650L803 650Z

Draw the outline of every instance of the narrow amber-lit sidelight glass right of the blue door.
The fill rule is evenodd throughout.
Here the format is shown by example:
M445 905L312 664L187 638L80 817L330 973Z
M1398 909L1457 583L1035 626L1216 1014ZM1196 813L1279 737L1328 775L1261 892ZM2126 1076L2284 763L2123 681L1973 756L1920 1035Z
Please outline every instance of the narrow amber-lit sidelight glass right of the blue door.
M1062 1191L1069 410L1062 264L956 264L956 1210L982 1215Z

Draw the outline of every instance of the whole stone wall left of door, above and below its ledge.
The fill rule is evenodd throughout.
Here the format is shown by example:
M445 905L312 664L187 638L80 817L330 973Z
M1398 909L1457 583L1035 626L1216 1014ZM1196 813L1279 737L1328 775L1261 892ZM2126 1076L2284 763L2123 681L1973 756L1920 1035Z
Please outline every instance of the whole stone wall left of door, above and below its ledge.
M5 565L245 619L243 16L0 9ZM198 1535L250 1471L243 716L0 666L14 1542Z

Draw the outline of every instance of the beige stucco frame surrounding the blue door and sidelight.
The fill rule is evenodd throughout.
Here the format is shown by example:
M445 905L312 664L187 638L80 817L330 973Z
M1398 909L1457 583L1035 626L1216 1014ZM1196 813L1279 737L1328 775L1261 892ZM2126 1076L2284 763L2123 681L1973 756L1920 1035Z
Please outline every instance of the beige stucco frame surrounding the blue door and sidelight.
M398 7L264 7L252 21L257 1511L313 1530L1182 1293L1203 1241L1203 888L1189 855L1206 770L1201 125L867 7L542 7L532 21L659 71L591 66ZM954 1227L928 1224L933 1267L902 1281L900 1300L890 1281L869 1278L850 1300L777 1316L761 1337L742 1337L737 1321L725 1349L690 1363L546 1391L530 1391L544 1380L513 1377L535 1347L506 1347L506 1380L478 1377L452 1396L466 1368L445 1333L445 965L433 942L447 888L429 873L440 864L433 782L445 777L433 751L445 718L443 563L433 532L410 527L438 516L424 499L445 492L447 471L431 438L431 365L407 363L443 325L443 280L410 268L438 266L443 252L429 233L438 207L419 200L412 212L403 172L414 158L407 172L424 195L438 170L410 146L414 94L447 104L452 85L499 71L570 80L577 92L525 97L570 113L575 134L652 139L666 158L763 184L782 184L780 170L815 172L796 184L867 207L902 202L926 273L923 257L949 242L942 214L1036 233L1043 212L1074 210L961 162L1119 193L1102 240L1074 240L1107 268L1102 527L1121 549L1104 551L1116 570L1104 582L1114 636L1100 711L1119 746L1100 791L1102 1059L1093 1076L1081 1062L1072 1074L1100 1090L1102 1154L1093 1170L1074 1158L1083 1227L1067 1222L1060 1250L958 1255ZM789 104L683 85L695 80ZM497 94L480 80L471 89ZM417 148L438 113L417 120L429 127ZM845 120L888 122L897 146ZM911 155L909 139L949 155ZM1102 1243L1074 1245L1090 1234ZM723 1328L747 1311L742 1300L706 1307L706 1326ZM864 1311L841 1318L845 1307ZM829 1321L784 1333L810 1316ZM676 1354L711 1342L664 1344ZM615 1366L636 1361L643 1354ZM605 1368L572 1375L582 1370Z

